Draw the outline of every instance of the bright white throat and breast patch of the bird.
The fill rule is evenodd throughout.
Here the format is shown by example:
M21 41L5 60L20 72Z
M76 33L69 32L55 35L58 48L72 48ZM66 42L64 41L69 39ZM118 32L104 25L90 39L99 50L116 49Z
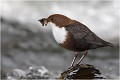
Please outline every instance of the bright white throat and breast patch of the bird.
M53 23L50 23L52 26L53 36L57 43L62 44L67 39L67 33L68 31L65 30L64 27L59 28Z

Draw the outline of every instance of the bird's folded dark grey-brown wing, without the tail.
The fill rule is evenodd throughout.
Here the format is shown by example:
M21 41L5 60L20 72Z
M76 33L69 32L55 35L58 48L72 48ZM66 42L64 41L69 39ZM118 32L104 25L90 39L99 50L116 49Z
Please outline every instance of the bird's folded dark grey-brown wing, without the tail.
M101 39L82 23L76 22L75 24L67 25L66 30L69 31L76 40L84 40L87 43L102 45Z

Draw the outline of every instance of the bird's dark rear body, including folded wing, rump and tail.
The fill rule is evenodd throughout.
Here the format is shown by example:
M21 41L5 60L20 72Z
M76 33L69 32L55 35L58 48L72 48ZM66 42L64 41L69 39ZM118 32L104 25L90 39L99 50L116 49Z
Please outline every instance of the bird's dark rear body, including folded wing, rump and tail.
M73 37L74 48L76 51L84 51L89 49L96 49L99 47L113 46L113 44L106 42L94 34L84 24L74 21L74 24L67 25L66 30Z

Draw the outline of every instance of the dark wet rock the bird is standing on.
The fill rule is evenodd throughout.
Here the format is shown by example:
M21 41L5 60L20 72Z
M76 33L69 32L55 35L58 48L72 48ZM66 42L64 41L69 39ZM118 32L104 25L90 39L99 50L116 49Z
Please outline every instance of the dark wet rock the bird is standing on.
M61 73L59 79L105 79L93 65L80 64Z

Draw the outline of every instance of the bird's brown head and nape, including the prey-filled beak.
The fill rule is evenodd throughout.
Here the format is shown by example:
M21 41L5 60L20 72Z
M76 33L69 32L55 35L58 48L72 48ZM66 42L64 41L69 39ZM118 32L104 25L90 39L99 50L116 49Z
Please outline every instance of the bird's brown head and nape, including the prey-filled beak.
M64 27L71 24L73 20L61 14L53 14L50 15L48 18L42 18L38 21L41 22L42 26L47 25L49 22L51 22L56 26Z

